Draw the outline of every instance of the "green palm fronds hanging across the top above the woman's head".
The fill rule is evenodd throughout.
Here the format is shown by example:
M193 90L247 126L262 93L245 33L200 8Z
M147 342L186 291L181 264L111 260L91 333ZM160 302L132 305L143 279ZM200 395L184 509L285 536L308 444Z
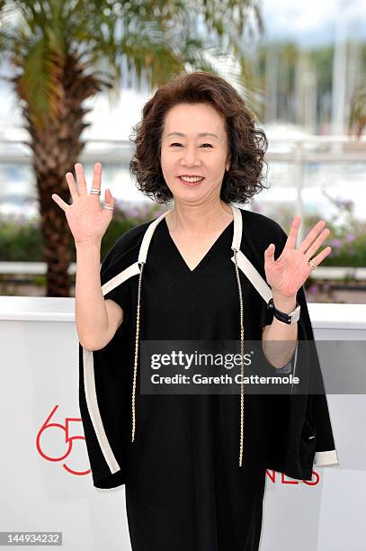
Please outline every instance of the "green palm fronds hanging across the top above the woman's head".
M57 111L70 56L110 100L118 98L121 77L154 88L186 68L222 74L224 59L230 65L235 57L231 78L254 111L261 109L243 40L250 17L263 29L256 0L1 0L0 8L0 55L21 71L22 97L39 117Z

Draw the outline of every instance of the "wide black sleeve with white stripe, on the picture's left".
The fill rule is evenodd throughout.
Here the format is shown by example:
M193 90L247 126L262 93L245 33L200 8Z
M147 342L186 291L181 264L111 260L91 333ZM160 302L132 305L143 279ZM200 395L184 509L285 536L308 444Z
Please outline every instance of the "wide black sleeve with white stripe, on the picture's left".
M138 250L147 226L144 222L121 235L100 268L104 298L111 298L127 312L129 290L133 297L137 285ZM79 343L79 407L96 488L114 488L127 480L130 336L129 326L123 322L103 348L88 350Z

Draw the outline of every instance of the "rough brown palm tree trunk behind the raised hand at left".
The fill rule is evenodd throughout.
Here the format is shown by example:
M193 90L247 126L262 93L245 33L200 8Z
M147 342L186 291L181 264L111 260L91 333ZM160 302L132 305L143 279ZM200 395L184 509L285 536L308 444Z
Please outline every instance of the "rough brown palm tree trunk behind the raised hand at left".
M62 67L61 67L62 68ZM85 65L73 56L67 57L54 92L58 101L52 113L47 113L40 122L27 98L22 93L20 77L13 77L15 92L22 100L22 114L31 140L25 142L33 153L32 167L36 179L40 203L40 227L43 239L43 257L47 263L47 288L45 296L69 296L71 278L68 267L71 247L74 244L65 213L51 198L58 194L71 204L65 175L73 171L85 142L81 133L89 126L84 122L86 97L96 94L108 83L85 76Z

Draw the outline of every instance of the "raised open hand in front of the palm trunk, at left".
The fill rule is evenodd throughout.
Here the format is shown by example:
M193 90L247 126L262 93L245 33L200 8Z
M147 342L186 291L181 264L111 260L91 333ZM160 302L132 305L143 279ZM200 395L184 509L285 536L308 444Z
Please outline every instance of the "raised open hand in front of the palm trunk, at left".
M77 187L74 176L67 172L66 179L73 200L72 204L67 204L58 196L52 194L51 197L58 203L65 212L68 226L74 236L76 245L81 243L102 242L103 235L112 221L113 212L104 209L101 206L100 195L88 194L84 168L81 163L75 165ZM102 164L94 164L93 186L94 189L101 189ZM104 204L114 207L115 200L109 189L105 190Z

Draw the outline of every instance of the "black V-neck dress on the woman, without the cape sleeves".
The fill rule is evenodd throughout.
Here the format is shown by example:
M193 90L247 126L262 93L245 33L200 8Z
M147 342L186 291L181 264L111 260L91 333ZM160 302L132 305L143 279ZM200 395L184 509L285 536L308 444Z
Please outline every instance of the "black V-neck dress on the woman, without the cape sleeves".
M233 228L231 221L191 270L165 218L156 226L142 278L140 339L240 339L237 278L230 259ZM131 364L137 280L129 278L110 295L125 310ZM264 302L263 309L251 308L256 291L242 273L240 280L245 339L261 339L272 317ZM267 441L261 396L245 395L241 467L239 416L240 394L137 390L136 437L125 456L133 551L258 549Z

